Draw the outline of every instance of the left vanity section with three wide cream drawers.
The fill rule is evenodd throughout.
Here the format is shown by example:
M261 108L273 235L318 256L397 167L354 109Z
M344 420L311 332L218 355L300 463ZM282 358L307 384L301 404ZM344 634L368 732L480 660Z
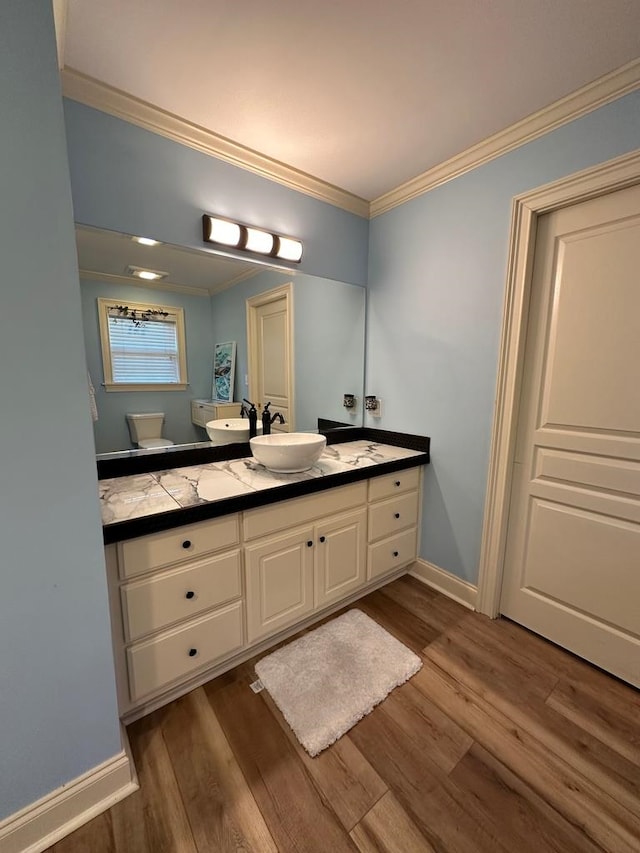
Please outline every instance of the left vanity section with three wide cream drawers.
M107 548L121 711L244 646L237 513Z

